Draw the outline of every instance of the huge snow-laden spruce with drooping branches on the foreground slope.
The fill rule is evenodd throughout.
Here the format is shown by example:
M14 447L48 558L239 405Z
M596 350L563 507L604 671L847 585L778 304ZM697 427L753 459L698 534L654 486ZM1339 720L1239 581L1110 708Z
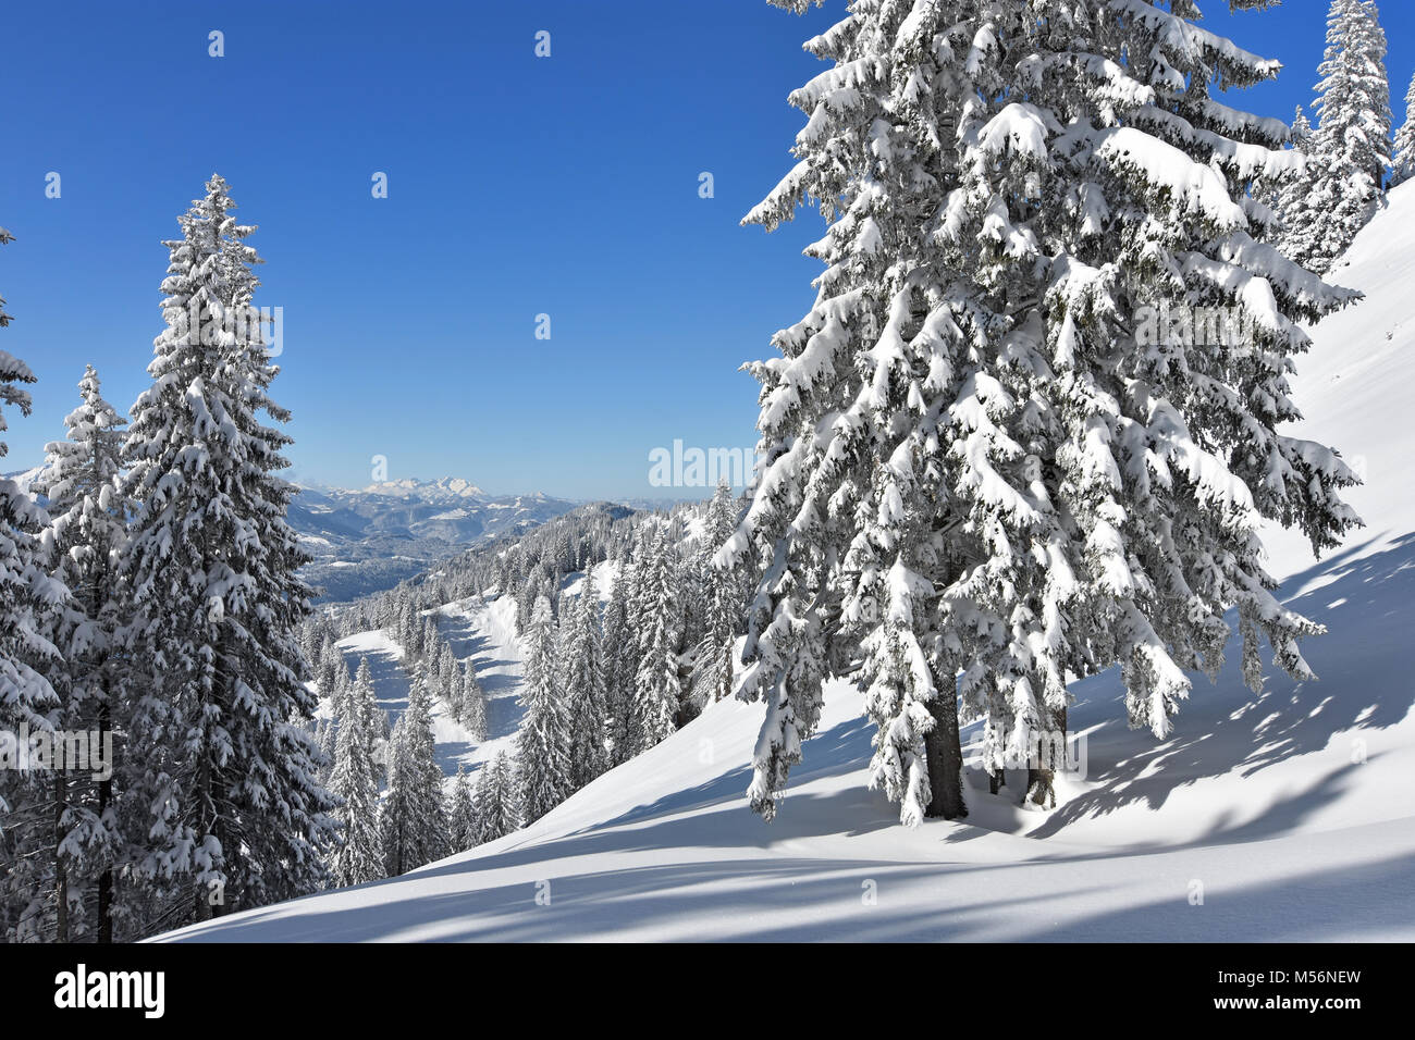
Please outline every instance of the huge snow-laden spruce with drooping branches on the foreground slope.
M805 10L807 0L774 0ZM1240 3L1261 7L1259 0ZM807 48L798 164L746 222L815 201L809 313L750 365L764 468L720 553L758 569L737 695L766 703L749 799L770 816L822 679L866 691L872 784L901 819L959 816L958 727L982 765L1047 747L1067 681L1119 664L1131 724L1163 737L1237 606L1307 675L1319 631L1272 597L1258 516L1332 545L1354 481L1298 417L1299 320L1353 299L1265 245L1249 188L1300 167L1288 127L1213 93L1278 64L1193 3L856 0ZM1155 330L1227 307L1254 335Z

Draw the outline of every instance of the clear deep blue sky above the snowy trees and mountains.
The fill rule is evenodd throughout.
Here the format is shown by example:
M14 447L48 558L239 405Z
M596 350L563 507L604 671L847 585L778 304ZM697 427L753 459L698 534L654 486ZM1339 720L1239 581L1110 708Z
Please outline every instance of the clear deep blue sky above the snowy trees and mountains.
M1207 25L1286 71L1244 106L1310 99L1326 0ZM1415 11L1387 0L1397 120ZM212 171L259 224L258 303L283 308L275 396L293 475L460 475L492 492L661 495L648 454L750 450L737 371L797 321L822 225L739 219L790 168L819 71L801 18L712 3L11 4L0 92L0 345L35 369L20 468L62 436L85 362L126 409L161 330L160 241ZM208 34L225 57L208 55ZM536 58L535 34L552 54ZM61 197L45 177L61 175ZM385 200L371 194L388 174ZM715 197L699 197L699 174ZM536 316L552 337L536 340Z

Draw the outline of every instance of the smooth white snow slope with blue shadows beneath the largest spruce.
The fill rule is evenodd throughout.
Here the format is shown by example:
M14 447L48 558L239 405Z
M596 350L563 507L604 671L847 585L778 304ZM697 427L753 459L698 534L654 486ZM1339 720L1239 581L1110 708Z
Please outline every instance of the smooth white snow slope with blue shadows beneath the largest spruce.
M525 831L166 938L1415 938L1412 267L1415 184L1337 270L1370 299L1316 330L1296 381L1306 436L1364 456L1370 480L1351 495L1368 526L1330 559L1272 541L1283 597L1330 628L1307 644L1320 682L1276 674L1254 698L1230 664L1163 743L1125 727L1114 675L1077 683L1084 775L1056 811L1023 812L1017 777L993 797L971 771L971 816L917 831L865 790L857 693L828 691L770 825L741 798L760 707L726 702ZM509 658L507 618L464 617Z

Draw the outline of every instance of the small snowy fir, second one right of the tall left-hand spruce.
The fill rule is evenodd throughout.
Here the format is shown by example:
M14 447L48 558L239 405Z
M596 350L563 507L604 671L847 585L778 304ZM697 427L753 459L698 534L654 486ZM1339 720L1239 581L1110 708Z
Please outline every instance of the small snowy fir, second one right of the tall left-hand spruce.
M389 877L415 870L447 850L441 767L433 737L432 695L415 682L408 710L388 744L388 794L379 812L383 866Z

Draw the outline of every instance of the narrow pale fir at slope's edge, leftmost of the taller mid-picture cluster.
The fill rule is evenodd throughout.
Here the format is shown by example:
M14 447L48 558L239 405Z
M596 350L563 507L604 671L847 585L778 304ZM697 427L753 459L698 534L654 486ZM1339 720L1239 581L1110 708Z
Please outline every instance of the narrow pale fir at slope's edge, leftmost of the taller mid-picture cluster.
M543 596L531 611L525 635L525 712L516 733L521 812L532 824L574 791L570 775L570 716L556 675L555 623Z

